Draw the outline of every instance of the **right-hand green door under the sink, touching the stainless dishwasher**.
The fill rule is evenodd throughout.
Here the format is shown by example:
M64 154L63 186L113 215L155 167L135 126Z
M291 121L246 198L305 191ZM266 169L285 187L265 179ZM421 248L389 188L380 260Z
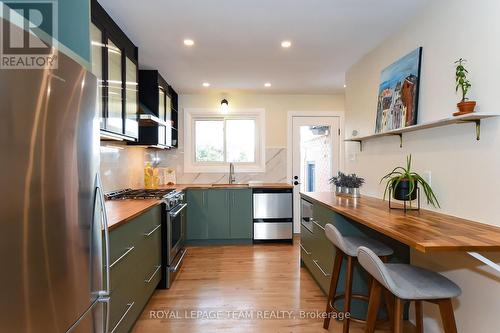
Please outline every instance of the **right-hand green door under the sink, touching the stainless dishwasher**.
M236 189L228 192L230 238L252 238L252 190Z

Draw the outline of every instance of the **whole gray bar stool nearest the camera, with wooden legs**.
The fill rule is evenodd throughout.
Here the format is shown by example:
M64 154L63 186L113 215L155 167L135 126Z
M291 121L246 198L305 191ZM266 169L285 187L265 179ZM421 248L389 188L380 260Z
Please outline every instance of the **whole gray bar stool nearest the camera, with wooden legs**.
M393 332L402 330L403 303L415 301L417 332L423 332L422 301L439 305L445 333L457 333L451 299L461 294L460 287L453 281L433 271L407 264L385 264L367 247L358 249L361 266L373 278L368 304L366 332L375 330L376 316L382 287L395 297L393 308Z

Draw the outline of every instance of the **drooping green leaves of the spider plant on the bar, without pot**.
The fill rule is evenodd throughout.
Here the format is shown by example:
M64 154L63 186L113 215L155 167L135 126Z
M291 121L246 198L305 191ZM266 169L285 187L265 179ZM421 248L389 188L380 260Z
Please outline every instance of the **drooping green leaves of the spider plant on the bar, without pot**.
M411 155L406 157L406 167L399 166L394 168L391 172L380 179L380 183L384 181L386 182L384 190L384 200L389 190L392 190L392 192L394 193L398 186L400 184L402 185L402 183L408 183L409 189L408 193L405 196L408 199L412 199L412 196L414 196L414 192L417 191L417 187L420 184L422 189L424 190L427 203L431 204L434 207L441 207L431 186L425 181L424 178L422 178L422 176L412 171Z

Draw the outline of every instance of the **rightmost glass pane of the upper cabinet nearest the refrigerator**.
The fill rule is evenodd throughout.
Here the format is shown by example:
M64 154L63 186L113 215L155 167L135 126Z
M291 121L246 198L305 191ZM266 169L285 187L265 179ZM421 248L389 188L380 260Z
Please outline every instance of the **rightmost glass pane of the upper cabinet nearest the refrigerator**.
M137 65L127 57L125 68L125 93L127 98L125 103L125 134L137 138L139 135Z

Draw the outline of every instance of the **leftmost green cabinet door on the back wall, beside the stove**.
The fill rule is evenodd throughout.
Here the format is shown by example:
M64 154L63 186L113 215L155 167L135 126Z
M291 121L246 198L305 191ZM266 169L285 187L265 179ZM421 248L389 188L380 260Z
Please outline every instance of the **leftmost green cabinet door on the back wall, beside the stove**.
M187 239L208 239L208 190L187 190Z

